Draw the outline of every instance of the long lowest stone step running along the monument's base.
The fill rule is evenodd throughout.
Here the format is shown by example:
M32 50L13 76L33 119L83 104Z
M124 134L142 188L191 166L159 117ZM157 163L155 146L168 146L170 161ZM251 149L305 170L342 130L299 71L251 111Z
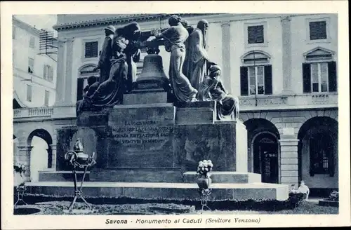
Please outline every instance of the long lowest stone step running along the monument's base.
M73 182L29 182L27 192L31 194L74 195ZM211 184L209 201L248 199L285 201L289 188L283 184ZM112 196L149 199L199 200L199 189L194 183L126 183L85 182L84 196Z

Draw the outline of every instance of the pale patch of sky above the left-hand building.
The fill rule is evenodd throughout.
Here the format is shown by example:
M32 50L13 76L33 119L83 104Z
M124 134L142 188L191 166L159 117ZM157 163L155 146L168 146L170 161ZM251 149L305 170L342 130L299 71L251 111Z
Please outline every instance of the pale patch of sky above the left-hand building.
M57 15L15 15L15 18L37 29L46 30L53 30L57 22Z

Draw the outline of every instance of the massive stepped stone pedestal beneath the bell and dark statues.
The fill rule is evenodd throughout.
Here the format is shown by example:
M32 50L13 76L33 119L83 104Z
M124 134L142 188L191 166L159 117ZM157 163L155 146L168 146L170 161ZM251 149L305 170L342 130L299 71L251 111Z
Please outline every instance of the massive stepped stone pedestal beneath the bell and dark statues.
M195 170L206 159L214 164L216 195L210 200L288 198L286 185L260 183L260 175L247 171L246 128L240 121L218 121L216 102L173 104L164 92L155 95L124 95L123 105L83 112L77 127L58 130L57 171L41 172L30 192L68 192L72 178L64 156L79 137L86 154L96 153L84 189L91 196L197 199Z

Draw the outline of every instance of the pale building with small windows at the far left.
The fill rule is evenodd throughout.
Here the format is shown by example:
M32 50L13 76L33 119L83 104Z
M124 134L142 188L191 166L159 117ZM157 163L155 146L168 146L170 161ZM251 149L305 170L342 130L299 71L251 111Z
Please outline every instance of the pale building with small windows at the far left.
M51 107L55 103L57 54L40 55L39 29L13 17L14 107Z

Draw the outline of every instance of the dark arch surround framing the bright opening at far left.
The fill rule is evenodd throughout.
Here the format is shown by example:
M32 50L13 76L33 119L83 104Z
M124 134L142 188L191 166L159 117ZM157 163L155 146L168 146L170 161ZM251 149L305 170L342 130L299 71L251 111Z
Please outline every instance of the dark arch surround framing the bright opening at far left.
M48 146L48 149L46 149L48 156L46 159L46 168L52 168L52 163L53 163L53 149L52 149L52 144L53 144L53 138L51 137L51 134L45 130L44 128L37 128L32 131L32 133L29 134L27 138L27 148L28 148L28 158L29 158L29 175L27 177L31 177L31 170L30 168L33 162L33 152L32 152L32 140L34 137L40 137L42 140L44 140Z

